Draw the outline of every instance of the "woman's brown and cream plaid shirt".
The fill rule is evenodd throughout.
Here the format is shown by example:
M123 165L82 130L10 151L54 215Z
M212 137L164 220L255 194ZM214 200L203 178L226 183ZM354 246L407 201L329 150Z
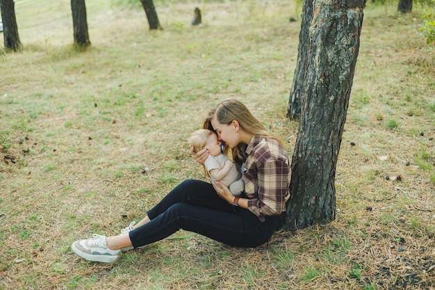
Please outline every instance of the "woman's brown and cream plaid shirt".
M261 220L264 216L279 216L286 211L291 176L286 150L272 138L253 137L243 159L249 211Z

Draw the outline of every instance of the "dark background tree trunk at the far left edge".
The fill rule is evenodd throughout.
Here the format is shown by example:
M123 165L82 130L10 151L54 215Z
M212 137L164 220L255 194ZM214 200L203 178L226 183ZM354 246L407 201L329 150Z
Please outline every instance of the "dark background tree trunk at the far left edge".
M22 49L22 44L21 41L19 41L14 1L0 0L0 10L3 22L3 40L5 49L19 51Z

